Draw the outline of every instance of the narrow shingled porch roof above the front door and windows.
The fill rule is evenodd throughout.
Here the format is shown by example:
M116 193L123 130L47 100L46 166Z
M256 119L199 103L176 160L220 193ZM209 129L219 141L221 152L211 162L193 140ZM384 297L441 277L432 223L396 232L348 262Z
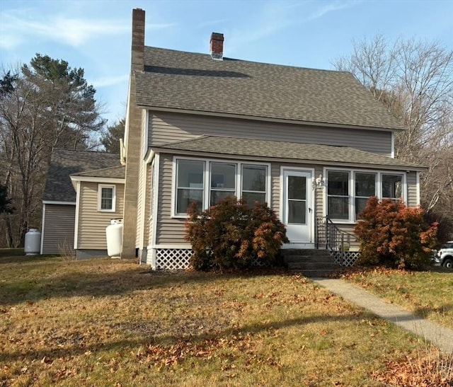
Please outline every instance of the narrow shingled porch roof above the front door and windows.
M285 159L307 161L312 163L329 163L338 165L360 165L364 167L406 169L423 168L413 163L396 158L379 156L347 146L329 146L316 144L299 144L283 141L265 141L259 139L237 139L232 137L201 136L196 139L161 145L155 150L196 151L214 155L252 156L265 159Z

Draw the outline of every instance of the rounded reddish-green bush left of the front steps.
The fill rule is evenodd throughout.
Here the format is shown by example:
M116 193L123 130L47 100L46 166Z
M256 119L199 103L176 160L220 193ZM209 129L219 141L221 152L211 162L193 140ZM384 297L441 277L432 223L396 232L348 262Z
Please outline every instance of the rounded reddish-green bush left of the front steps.
M204 212L195 203L188 208L186 240L192 243L190 265L195 270L246 269L256 259L273 265L282 243L288 243L285 226L267 204L226 197Z

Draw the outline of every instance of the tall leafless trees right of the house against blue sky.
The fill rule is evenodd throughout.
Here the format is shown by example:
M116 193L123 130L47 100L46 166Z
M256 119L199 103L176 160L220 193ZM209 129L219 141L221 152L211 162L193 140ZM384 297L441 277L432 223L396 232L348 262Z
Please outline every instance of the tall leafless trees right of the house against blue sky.
M413 39L389 45L382 35L353 44L335 67L352 72L401 119L406 130L396 135L396 157L428 167L423 207L453 218L453 51Z

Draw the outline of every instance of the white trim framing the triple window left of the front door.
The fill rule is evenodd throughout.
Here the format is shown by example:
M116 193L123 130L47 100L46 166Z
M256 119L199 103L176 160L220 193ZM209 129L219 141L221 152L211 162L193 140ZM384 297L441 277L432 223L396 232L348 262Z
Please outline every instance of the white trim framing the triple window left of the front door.
M187 214L178 214L176 212L176 190L177 190L177 164L178 160L192 160L192 161L203 161L205 162L205 171L203 171L203 208L202 211L205 211L209 208L210 202L210 164L211 163L230 163L236 164L236 197L239 197L239 194L242 192L242 179L241 179L241 172L242 166L265 166L267 168L266 173L266 202L268 203L269 207L271 207L271 171L270 171L270 163L260 163L259 161L236 161L231 159L224 159L224 158L200 158L200 157L185 157L185 156L173 156L173 168L172 168L172 178L171 178L171 217L175 219L187 219Z

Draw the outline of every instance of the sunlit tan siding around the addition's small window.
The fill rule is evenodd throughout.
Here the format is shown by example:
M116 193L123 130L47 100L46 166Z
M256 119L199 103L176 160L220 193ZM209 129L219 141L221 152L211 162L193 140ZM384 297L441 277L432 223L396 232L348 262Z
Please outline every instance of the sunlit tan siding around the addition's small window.
M105 228L110 219L122 218L124 184L116 184L115 212L98 211L98 183L81 183L79 249L106 249Z

